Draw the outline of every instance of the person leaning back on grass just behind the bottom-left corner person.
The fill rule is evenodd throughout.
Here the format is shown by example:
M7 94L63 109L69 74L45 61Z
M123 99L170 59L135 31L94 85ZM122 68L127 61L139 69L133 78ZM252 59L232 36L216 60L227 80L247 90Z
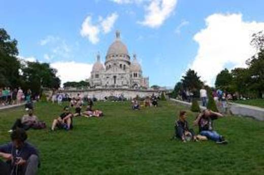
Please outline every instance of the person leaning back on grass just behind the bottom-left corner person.
M16 128L22 128L24 130L32 129L44 129L46 128L46 123L39 121L38 117L34 115L33 109L26 108L27 114L22 117L22 119L17 119L13 124L11 130L12 132Z

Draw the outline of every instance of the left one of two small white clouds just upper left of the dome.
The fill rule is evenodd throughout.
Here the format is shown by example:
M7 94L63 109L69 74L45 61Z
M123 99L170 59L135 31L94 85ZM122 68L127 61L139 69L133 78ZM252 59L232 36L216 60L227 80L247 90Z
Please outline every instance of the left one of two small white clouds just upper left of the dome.
M100 29L98 26L91 23L92 17L87 16L82 23L81 36L86 37L92 44L99 42L98 34Z

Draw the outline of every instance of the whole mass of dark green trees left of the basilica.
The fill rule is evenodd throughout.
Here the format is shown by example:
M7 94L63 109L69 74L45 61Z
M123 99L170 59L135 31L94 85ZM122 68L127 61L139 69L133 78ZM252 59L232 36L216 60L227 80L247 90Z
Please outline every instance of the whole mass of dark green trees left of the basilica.
M0 28L0 87L9 86L31 89L39 94L42 87L58 88L57 70L49 63L22 61L18 59L17 41L4 28Z

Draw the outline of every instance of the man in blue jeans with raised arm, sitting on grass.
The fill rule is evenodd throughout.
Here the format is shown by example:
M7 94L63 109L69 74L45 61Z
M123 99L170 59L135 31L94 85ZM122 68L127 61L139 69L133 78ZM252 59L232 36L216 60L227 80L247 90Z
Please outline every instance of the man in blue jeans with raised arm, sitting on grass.
M219 135L213 128L213 121L221 117L224 116L220 113L211 110L204 110L197 116L193 124L199 125L200 135L206 136L217 144L226 144L227 141L225 141L224 137Z

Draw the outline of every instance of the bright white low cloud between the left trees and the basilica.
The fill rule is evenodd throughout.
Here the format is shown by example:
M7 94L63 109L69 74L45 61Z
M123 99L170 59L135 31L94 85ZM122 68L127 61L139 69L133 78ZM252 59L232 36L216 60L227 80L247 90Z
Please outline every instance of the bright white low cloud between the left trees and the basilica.
M50 64L51 67L56 68L61 80L61 85L68 81L81 81L90 77L92 71L92 64L70 62L54 62Z

